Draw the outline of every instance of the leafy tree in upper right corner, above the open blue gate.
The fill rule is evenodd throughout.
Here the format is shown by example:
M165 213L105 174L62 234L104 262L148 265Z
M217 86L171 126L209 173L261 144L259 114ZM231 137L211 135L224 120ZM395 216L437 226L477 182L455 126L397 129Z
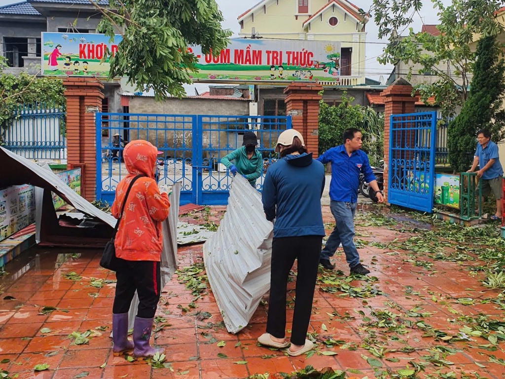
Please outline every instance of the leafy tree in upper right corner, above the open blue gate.
M425 102L434 96L444 116L450 116L468 98L468 84L475 63L471 43L475 36L503 31L495 14L502 4L497 0L452 0L451 5L445 7L441 0L431 0L440 20L437 26L440 34L415 33L410 28L407 36L398 37L409 28L426 3L430 2L373 0L370 12L379 26L378 37L387 37L389 42L378 61L383 64L420 64L422 68L410 72L409 76L425 72L436 74L437 81L415 85L414 91L419 91Z

